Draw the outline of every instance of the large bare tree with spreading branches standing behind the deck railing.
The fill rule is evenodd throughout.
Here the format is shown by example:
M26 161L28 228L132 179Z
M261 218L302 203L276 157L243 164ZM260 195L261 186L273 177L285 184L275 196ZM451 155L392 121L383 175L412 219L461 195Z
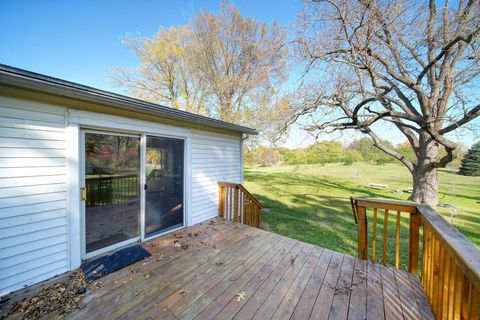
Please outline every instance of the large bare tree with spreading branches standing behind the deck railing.
M479 8L478 0L307 1L296 52L309 85L292 119L370 136L411 172L410 199L437 204L437 168L457 149L449 137L480 115ZM405 136L416 161L382 143L380 123Z

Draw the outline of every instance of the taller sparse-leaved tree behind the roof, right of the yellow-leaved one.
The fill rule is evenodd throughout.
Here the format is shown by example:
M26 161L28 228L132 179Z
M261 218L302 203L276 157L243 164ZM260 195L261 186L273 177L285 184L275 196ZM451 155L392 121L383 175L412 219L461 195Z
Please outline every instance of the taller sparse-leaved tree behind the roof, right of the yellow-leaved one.
M285 80L285 34L275 22L268 26L244 18L234 5L222 2L218 15L199 13L191 29L193 62L219 119L241 121L257 109L257 97Z

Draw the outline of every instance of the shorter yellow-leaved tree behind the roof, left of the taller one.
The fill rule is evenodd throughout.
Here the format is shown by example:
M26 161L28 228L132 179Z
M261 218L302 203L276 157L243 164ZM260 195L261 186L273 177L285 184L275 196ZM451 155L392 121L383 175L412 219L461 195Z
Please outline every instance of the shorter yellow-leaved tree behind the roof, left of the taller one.
M140 58L137 69L119 68L118 85L140 99L205 114L207 88L192 61L192 33L187 27L161 28L149 37L127 37L124 44Z

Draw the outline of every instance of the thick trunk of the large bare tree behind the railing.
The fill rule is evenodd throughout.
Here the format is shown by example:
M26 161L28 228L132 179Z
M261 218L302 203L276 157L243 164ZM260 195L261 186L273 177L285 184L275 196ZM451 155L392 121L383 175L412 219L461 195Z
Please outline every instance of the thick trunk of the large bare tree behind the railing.
M412 172L413 192L409 200L430 206L438 204L438 175L432 161L437 158L439 147L427 133L420 133L417 166Z

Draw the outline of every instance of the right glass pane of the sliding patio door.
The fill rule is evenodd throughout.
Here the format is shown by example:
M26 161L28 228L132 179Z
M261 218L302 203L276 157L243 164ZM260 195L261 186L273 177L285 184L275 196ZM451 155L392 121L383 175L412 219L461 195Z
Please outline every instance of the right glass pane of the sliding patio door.
M145 236L183 226L183 140L147 136Z

